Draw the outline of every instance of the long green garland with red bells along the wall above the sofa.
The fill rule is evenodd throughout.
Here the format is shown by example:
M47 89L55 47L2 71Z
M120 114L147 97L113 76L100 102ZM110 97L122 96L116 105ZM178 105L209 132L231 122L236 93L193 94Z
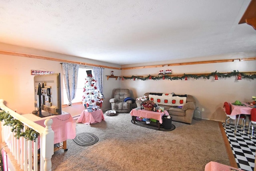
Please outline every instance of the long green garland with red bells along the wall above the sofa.
M170 75L158 75L158 76L151 76L151 75L148 75L148 76L131 76L131 77L123 77L124 79L138 79L138 80L163 80L163 77L165 78L165 80L183 80L185 78L194 78L194 79L199 79L199 78L207 78L208 80L210 79L210 77L215 77L215 76L218 76L218 78L229 78L229 77L232 77L232 76L238 76L240 74L241 78L248 78L248 79L256 79L256 74L252 74L252 75L247 75L247 74L244 74L244 73L241 73L241 72L230 72L230 73L219 73L219 72L212 72L210 74L199 74L199 75L196 75L196 74L184 74L183 76L170 76Z

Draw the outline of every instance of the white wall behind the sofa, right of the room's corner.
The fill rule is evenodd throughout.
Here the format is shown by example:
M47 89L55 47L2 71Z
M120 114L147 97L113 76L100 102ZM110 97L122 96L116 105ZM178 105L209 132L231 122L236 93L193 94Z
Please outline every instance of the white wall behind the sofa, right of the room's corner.
M254 57L256 54L240 54L240 58ZM230 59L237 58L237 55L215 56L211 59ZM205 58L188 59L192 61L205 61ZM186 60L166 61L165 64L176 64L179 62L186 62ZM136 64L136 66L145 66L148 64ZM161 64L151 63L151 65ZM162 63L163 64L163 63ZM131 67L135 65L126 65L122 68ZM234 62L225 63L212 63L212 64L196 64L185 66L164 66L160 68L146 68L136 70L122 70L122 76L138 76L138 75L157 75L159 70L172 70L172 74L203 74L211 72L239 72L256 71L256 61L241 61L235 60ZM252 95L256 95L256 79L242 79L237 80L236 77L219 78L209 80L200 78L198 80L188 78L185 80L124 80L121 81L122 88L129 88L133 93L133 97L139 97L146 92L156 93L176 93L176 94L190 94L196 99L196 106L199 109L204 108L202 118L224 121L225 114L222 110L225 101L233 102L240 100L244 102L252 101Z

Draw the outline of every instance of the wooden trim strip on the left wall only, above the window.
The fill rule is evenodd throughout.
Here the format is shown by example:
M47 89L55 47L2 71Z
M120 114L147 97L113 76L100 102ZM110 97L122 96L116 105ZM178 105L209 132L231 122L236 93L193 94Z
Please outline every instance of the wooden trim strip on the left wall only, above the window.
M76 62L76 61L70 61L70 60L62 60L62 59L58 59L58 58L51 58L51 57L32 55L32 54L23 54L23 53L18 53L18 52L9 52L9 51L3 51L3 50L0 50L0 54L11 55L11 56L22 56L22 57L27 57L27 58L41 59L41 60L51 60L51 61L66 62L66 63L72 63L72 64L78 64L78 65L84 65L84 66L96 66L96 67L102 67L102 68L110 68L110 69L115 69L115 70L121 70L121 68L116 68L116 67L89 64L89 63L86 63L86 62Z

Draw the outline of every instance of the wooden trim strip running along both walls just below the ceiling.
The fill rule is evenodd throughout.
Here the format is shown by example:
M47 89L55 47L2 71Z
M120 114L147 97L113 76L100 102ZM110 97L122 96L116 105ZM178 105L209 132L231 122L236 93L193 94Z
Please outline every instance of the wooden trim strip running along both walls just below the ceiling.
M22 57L27 57L27 58L36 58L36 59L41 59L41 60L66 62L66 63L79 64L79 65L84 65L84 66L96 66L96 67L102 67L102 68L110 68L110 69L114 69L114 70L134 70L134 69L144 69L144 68L158 68L158 67L164 67L164 66L183 66L183 65L210 64L210 63L220 63L220 62L234 62L234 60L239 60L239 61L256 60L256 57L252 57L252 58L238 58L238 59L231 59L231 60L212 60L212 61L184 62L184 63L176 63L176 64L160 64L160 65L150 65L150 66L117 68L117 67L89 64L89 63L86 63L86 62L76 62L76 61L71 61L71 60L62 60L62 59L52 58L52 57L47 57L47 56L24 54L24 53L18 53L18 52L9 52L9 51L3 51L3 50L0 50L0 54L12 55L12 56L22 56Z

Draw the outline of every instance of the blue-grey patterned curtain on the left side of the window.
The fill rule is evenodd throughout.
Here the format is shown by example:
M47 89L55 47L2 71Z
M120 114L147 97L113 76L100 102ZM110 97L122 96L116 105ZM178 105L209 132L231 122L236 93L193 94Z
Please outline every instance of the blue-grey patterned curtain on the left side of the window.
M62 63L62 73L64 77L64 84L66 88L66 93L68 97L68 105L72 105L72 100L76 96L76 87L77 87L77 77L78 77L78 68L77 64L68 64Z

